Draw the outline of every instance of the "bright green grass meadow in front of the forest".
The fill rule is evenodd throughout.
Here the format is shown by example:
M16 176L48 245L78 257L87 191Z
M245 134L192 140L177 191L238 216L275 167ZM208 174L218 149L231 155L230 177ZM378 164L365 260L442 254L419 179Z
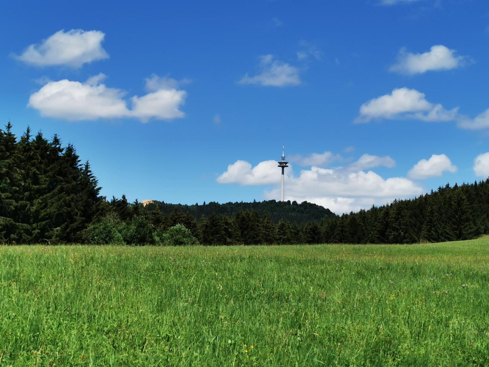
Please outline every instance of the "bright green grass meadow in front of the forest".
M488 366L489 237L0 247L0 366Z

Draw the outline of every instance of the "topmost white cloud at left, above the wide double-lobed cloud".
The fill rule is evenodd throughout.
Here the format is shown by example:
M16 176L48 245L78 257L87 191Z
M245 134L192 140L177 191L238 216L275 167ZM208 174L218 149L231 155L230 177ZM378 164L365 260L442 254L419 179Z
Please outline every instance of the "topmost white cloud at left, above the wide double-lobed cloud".
M109 58L102 47L105 34L101 31L60 30L41 44L27 46L18 60L39 67L65 65L80 68L83 64Z

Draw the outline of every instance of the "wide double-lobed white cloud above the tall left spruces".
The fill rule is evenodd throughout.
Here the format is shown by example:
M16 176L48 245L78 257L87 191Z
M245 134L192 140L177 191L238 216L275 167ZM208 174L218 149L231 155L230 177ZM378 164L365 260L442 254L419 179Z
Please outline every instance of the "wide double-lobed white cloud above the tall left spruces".
M129 109L124 99L126 92L100 84L104 78L100 73L85 83L67 79L48 82L31 94L28 106L42 116L72 121L135 117L146 122L151 118L169 120L184 116L179 107L185 101L185 91L169 88L133 96Z

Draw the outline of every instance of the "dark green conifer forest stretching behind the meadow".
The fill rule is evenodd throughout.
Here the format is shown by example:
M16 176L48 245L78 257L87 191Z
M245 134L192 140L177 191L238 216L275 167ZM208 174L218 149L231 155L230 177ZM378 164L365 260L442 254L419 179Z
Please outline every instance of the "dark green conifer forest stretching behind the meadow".
M55 135L0 129L0 243L415 243L489 233L489 179L334 215L311 203L146 206L100 195L89 162Z

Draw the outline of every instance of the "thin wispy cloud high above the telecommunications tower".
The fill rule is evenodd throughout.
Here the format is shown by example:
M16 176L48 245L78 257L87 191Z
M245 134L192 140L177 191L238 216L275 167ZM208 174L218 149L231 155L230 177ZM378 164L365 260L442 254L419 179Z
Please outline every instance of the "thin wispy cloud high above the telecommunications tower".
M299 69L280 60L274 60L273 55L260 56L258 68L260 69L259 74L249 76L246 73L239 83L264 87L287 87L301 84Z

